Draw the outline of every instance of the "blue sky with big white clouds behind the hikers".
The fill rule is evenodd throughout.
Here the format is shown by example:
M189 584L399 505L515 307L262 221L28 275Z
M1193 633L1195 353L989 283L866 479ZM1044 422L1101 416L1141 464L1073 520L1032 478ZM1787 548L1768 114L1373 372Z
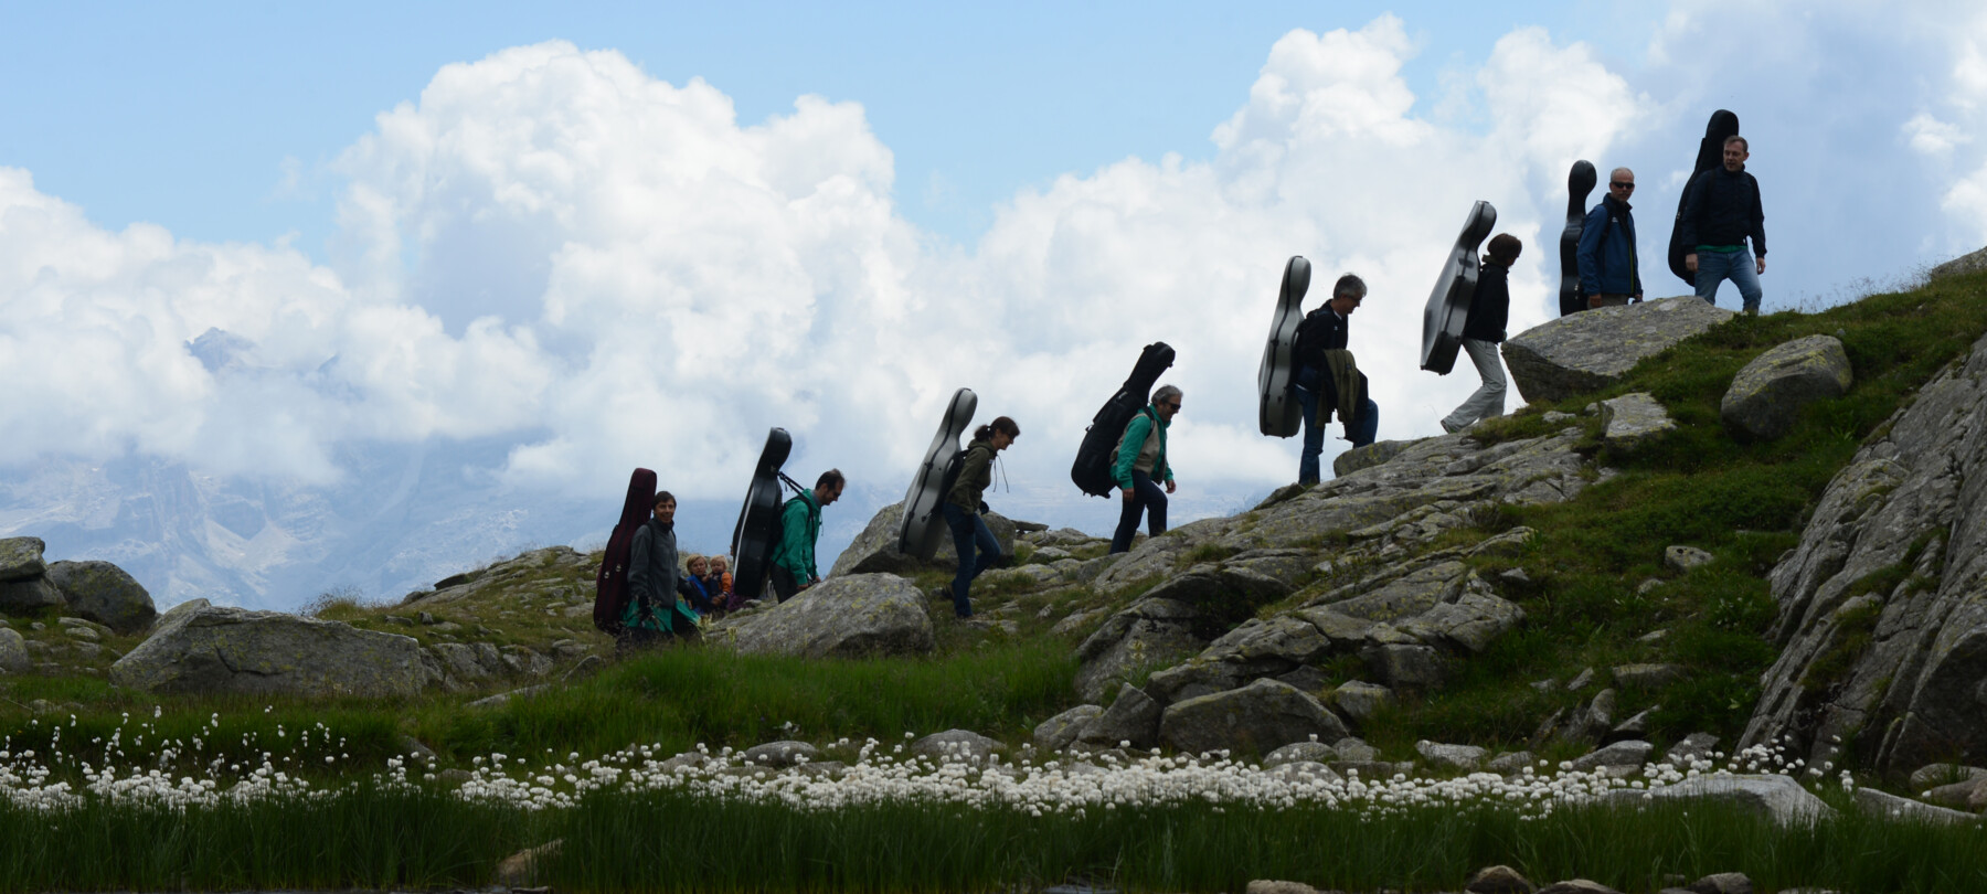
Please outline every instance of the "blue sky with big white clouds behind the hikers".
M1292 254L1317 292L1371 284L1351 348L1381 437L1439 433L1474 377L1417 368L1421 308L1470 203L1526 244L1512 332L1546 322L1570 163L1637 171L1659 258L1713 109L1753 139L1768 312L1987 242L1965 2L0 22L0 473L145 455L340 487L342 445L509 439L485 473L523 503L614 503L636 465L733 501L781 425L795 477L841 467L874 505L974 387L1023 431L990 503L1101 530L1067 467L1141 346L1180 356L1176 521L1296 477L1254 419Z

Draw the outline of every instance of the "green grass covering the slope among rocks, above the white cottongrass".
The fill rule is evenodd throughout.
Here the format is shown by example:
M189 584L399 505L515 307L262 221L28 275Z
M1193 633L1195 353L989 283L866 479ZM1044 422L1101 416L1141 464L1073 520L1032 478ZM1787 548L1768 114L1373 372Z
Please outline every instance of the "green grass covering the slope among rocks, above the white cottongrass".
M1621 691L1617 717L1661 703L1655 737L1675 739L1709 729L1731 741L1757 697L1758 671L1772 648L1760 638L1772 618L1764 574L1794 544L1802 517L1822 487L1910 393L1959 358L1987 332L1987 274L1943 280L1913 292L1880 294L1820 314L1782 312L1741 318L1711 334L1641 364L1629 379L1602 395L1560 407L1528 407L1504 421L1486 423L1488 437L1528 437L1554 429L1546 409L1578 411L1590 399L1651 391L1679 421L1679 431L1635 455L1609 455L1598 437L1590 449L1619 471L1580 501L1494 513L1486 530L1528 524L1540 530L1528 554L1484 558L1482 572L1522 566L1532 584L1510 592L1526 612L1524 630L1506 636L1484 656L1462 666L1458 677L1423 703L1403 705L1381 717L1369 737L1393 755L1407 757L1415 739L1472 741L1518 747L1534 725L1556 707L1580 701L1574 693L1540 693L1536 679L1568 679L1582 668L1605 670L1631 662L1675 662L1689 677L1661 693ZM1854 389L1812 407L1796 431L1770 445L1739 445L1723 433L1717 403L1731 375L1758 352L1808 334L1840 334L1856 368ZM1590 423L1594 425L1594 423ZM1661 568L1663 546L1691 544L1711 550L1711 566L1675 576ZM596 654L610 652L578 606L590 596L584 570L519 568L487 596L435 606L441 620L461 630L401 626L387 614L411 608L364 606L326 600L318 614L358 626L411 634L423 642L495 642L548 650L574 640ZM930 578L930 580L926 580ZM920 578L924 588L944 574ZM1663 578L1653 592L1637 584ZM940 620L940 654L930 660L793 662L737 658L715 650L674 650L612 664L606 671L554 683L546 693L497 709L467 701L521 681L491 681L467 693L435 693L405 703L342 701L296 703L246 697L153 697L109 687L101 671L68 677L0 679L0 737L14 747L52 743L52 717L26 709L30 699L77 705L64 743L76 759L103 753L125 711L147 723L145 741L127 733L129 757L151 755L161 739L201 733L213 749L294 753L294 765L316 765L330 749L320 735L300 751L296 731L324 723L352 755L350 765L378 767L397 753L401 733L411 733L443 753L445 763L503 751L513 755L580 751L600 753L634 741L688 747L695 741L753 745L779 737L896 739L904 731L930 733L970 727L1007 741L1023 741L1043 717L1075 703L1069 691L1071 638L1049 636L1051 616L1093 600L1087 590L1025 594L999 606L988 588L976 598L997 606L994 616L1019 624L1019 636L982 634ZM936 606L936 602L934 602ZM940 606L942 608L942 606ZM572 610L572 614L568 614ZM44 618L54 628L52 618ZM14 618L16 630L28 618ZM1663 630L1655 642L1643 634ZM54 638L54 630L30 636ZM129 650L135 640L109 640ZM1331 668L1341 677L1357 668ZM1592 689L1588 689L1588 695ZM163 715L149 719L159 705ZM211 717L217 715L219 717ZM286 735L278 735L278 727ZM101 739L91 745L91 739ZM324 751L328 755L328 751ZM181 755L177 763L197 763Z

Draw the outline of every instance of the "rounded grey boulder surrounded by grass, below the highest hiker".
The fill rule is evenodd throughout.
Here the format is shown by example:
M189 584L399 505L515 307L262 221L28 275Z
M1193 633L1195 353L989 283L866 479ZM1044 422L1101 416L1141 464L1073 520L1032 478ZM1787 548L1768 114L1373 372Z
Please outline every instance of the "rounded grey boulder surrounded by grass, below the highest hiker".
M1794 427L1802 407L1842 397L1854 379L1842 340L1796 338L1768 348L1733 375L1719 401L1719 419L1741 441L1772 441Z

